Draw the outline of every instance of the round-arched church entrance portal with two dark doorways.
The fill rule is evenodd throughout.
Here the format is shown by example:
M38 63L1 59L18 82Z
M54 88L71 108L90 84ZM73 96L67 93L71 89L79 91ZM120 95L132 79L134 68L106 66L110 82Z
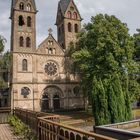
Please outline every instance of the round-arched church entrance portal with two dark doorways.
M48 86L44 89L41 99L41 111L56 111L62 105L62 91L56 86Z

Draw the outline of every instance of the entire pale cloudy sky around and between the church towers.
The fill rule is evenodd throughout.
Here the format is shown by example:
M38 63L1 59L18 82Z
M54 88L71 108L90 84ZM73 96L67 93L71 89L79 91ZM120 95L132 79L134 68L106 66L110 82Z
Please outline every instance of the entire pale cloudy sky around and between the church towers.
M37 45L47 36L48 29L53 29L53 36L57 39L56 13L58 0L35 0L37 13ZM122 22L127 23L129 33L133 35L140 28L140 0L74 0L81 17L82 24L90 22L91 16L99 13L115 15ZM10 50L11 0L0 0L0 35L7 40L5 50Z

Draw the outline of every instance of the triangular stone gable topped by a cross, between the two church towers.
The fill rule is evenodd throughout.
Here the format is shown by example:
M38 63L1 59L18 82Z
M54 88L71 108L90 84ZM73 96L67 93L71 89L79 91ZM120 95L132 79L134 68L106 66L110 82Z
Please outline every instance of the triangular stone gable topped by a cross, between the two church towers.
M64 55L62 47L56 42L51 34L39 45L37 53L46 55Z

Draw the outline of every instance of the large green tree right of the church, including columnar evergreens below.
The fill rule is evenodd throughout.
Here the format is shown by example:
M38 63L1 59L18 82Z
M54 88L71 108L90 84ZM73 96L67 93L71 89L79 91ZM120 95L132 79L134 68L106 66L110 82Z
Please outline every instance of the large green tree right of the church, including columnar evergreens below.
M78 35L72 56L92 96L96 125L131 119L128 77L135 73L133 52L127 25L115 16L92 17Z

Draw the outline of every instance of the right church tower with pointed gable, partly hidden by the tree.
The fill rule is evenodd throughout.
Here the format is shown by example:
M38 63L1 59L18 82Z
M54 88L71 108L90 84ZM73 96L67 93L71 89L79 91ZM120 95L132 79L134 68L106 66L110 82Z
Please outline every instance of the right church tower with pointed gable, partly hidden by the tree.
M76 41L81 29L81 16L73 0L60 0L58 3L56 26L58 42L67 49L70 42Z

